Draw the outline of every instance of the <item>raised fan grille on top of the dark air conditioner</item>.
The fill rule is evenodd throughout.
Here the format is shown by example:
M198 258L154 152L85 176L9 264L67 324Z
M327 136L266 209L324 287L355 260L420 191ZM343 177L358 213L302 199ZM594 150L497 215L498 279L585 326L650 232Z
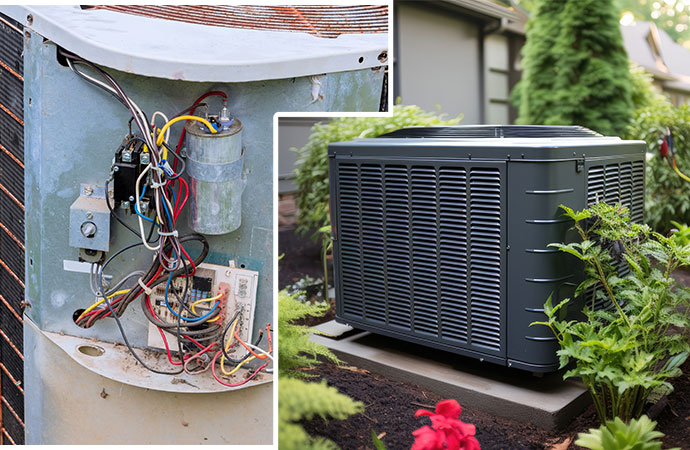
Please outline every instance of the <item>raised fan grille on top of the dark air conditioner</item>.
M580 126L503 125L412 127L396 130L380 137L387 138L558 138L598 137L588 128Z

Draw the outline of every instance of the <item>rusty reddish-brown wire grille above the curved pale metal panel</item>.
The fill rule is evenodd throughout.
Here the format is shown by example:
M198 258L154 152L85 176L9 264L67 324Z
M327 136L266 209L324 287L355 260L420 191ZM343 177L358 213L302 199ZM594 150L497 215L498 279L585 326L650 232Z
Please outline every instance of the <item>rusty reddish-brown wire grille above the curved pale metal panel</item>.
M100 5L95 8L216 27L298 31L324 38L388 31L388 7L376 5Z

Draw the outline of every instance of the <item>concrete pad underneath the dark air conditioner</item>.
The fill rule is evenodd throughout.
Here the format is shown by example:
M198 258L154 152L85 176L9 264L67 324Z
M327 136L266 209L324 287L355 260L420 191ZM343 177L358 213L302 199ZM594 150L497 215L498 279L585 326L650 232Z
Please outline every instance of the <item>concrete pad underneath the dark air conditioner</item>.
M327 322L320 329L337 326ZM547 430L566 426L591 403L584 385L563 381L561 372L539 377L369 332L341 339L313 335L312 340L349 364L454 398L463 407Z

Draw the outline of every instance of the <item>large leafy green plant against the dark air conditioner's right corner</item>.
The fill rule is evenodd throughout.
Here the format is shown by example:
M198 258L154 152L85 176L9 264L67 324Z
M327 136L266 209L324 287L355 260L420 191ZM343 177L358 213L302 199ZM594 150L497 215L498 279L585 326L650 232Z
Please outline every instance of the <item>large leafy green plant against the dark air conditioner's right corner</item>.
M690 265L690 246L631 223L621 206L561 208L581 241L551 246L583 261L585 279L575 291L578 300L553 306L549 298L547 320L535 324L553 331L561 367L574 363L564 377L582 378L602 423L614 417L628 422L642 414L652 390L673 389L668 380L681 374L688 356L690 289L671 273ZM630 268L624 278L620 264ZM594 310L597 300L607 307ZM585 320L567 320L568 307L579 310L582 301Z

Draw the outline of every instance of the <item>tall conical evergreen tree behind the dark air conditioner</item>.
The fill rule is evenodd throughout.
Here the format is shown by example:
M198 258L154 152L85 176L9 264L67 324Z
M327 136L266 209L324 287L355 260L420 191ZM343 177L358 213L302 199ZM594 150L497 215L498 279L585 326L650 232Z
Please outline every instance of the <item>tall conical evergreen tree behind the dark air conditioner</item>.
M536 0L523 77L513 93L520 124L582 125L621 135L632 119L628 56L614 0Z

